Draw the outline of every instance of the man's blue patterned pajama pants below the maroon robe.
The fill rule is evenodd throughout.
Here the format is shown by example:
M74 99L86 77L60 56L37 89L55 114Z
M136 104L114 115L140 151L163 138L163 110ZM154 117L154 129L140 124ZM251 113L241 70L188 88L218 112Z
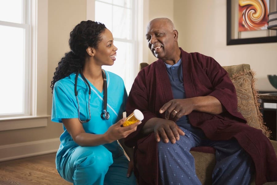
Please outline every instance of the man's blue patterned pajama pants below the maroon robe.
M211 141L202 130L190 124L180 127L185 136L175 144L158 143L159 182L163 185L201 185L195 173L194 158L190 153L192 147L214 147L216 165L212 173L213 184L234 185L250 184L254 174L254 163L250 155L233 139L228 141Z

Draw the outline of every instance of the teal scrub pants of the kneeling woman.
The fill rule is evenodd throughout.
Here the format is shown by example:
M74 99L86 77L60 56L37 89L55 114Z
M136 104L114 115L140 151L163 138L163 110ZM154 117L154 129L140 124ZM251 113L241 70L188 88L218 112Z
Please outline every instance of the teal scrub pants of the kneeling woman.
M135 185L134 172L127 177L128 159L117 158L104 146L77 146L61 159L62 178L74 185Z

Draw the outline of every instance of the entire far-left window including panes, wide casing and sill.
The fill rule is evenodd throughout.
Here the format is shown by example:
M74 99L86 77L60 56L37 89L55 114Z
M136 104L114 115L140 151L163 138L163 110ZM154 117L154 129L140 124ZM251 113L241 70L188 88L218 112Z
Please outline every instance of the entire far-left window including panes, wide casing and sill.
M48 0L0 0L0 131L47 125Z

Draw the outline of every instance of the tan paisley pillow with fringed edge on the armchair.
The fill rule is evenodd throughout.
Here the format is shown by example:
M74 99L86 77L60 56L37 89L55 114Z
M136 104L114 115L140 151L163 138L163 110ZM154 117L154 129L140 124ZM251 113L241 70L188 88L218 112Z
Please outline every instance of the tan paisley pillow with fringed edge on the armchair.
M259 96L255 89L255 72L245 70L234 74L230 79L235 85L238 97L238 111L247 120L247 125L261 129L263 134L270 138L271 131L263 122L262 113L259 110Z

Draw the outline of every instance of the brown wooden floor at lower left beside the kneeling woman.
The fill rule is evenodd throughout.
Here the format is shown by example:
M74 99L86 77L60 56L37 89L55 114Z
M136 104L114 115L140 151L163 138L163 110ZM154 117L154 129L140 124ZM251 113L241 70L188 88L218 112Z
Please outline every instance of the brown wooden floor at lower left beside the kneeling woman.
M55 166L56 154L0 162L0 185L72 185Z

